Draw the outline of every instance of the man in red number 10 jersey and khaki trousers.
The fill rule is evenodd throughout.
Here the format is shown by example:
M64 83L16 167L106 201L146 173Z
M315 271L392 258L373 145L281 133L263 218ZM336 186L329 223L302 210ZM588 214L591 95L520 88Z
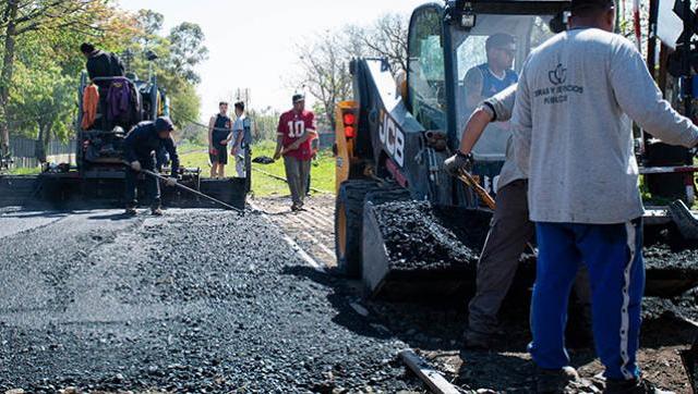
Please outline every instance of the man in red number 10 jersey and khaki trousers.
M305 111L305 97L293 95L293 109L281 114L277 127L274 160L284 156L286 180L291 192L291 210L303 209L308 174L313 158L311 140L317 137L315 114Z

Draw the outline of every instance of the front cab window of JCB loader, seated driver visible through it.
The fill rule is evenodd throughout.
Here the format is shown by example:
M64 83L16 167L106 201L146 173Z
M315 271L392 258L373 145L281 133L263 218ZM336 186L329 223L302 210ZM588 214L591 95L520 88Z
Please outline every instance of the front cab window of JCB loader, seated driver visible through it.
M553 36L552 20L552 15L479 14L472 29L454 32L458 138L482 100L518 82L530 51ZM491 124L473 149L476 158L504 160L510 135L508 122Z

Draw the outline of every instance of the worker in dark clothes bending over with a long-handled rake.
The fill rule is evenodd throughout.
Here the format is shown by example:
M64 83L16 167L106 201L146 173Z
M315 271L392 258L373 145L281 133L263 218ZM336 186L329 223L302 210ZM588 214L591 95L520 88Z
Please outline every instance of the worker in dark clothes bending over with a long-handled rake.
M123 141L125 159L131 163L127 169L127 214L135 214L137 205L136 178L141 170L155 172L157 155L165 150L171 161L171 174L167 183L168 186L177 184L177 172L179 170L179 156L177 147L172 140L171 133L174 125L168 118L158 118L155 122L142 122L135 126ZM151 200L151 212L155 216L163 216L160 208L160 185L155 176L145 176L146 192Z

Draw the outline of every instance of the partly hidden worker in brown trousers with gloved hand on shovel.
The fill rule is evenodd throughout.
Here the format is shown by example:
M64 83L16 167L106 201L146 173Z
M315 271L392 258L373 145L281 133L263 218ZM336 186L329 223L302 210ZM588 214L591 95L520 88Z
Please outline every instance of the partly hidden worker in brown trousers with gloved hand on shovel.
M460 147L446 159L444 169L457 176L471 171L472 149L491 122L512 119L517 85L484 100L466 124ZM490 131L489 133L497 132ZM514 159L516 147L509 137L506 161L496 184L496 208L490 232L478 261L477 292L468 305L468 329L464 333L468 348L490 348L498 333L497 313L514 282L518 262L527 244L533 239L534 226L528 212L528 180ZM586 270L580 271L575 291L583 312L588 316L590 303ZM583 315L583 313L582 313Z

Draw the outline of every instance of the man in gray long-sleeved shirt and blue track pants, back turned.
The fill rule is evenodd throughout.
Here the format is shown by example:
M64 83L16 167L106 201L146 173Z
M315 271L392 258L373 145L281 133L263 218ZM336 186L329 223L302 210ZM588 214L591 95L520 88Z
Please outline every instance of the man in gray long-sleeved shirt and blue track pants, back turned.
M662 99L635 46L611 33L614 22L613 0L573 0L570 29L533 50L521 71L516 160L529 175L539 245L529 352L541 381L575 378L564 332L570 287L583 264L606 392L647 393L655 389L640 379L636 359L643 207L629 119L686 147L698 143L698 128Z

